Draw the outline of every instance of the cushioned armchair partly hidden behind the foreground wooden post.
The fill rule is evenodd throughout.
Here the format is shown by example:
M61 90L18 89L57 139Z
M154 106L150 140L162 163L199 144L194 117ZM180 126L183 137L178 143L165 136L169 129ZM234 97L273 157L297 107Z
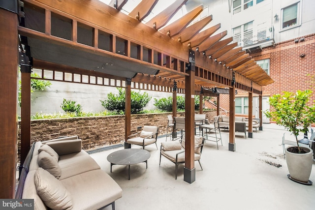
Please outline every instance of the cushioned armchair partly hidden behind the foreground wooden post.
M194 160L200 163L204 138L202 136L194 136ZM185 163L185 137L181 141L162 142L159 155L159 165L161 165L161 157L172 161L175 164L175 180L177 180L178 165Z

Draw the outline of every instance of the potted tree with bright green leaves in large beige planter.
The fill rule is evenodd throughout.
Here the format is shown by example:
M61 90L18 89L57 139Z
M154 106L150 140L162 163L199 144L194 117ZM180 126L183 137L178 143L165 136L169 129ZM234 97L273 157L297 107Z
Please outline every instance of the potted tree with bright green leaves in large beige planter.
M278 125L283 125L295 136L297 146L288 147L285 150L289 170L287 176L290 180L308 185L312 184L309 178L313 164L313 150L307 145L300 146L298 135L300 132L307 132L310 125L315 122L315 105L308 106L311 95L311 90L273 95L269 98L273 109L264 112L268 118Z

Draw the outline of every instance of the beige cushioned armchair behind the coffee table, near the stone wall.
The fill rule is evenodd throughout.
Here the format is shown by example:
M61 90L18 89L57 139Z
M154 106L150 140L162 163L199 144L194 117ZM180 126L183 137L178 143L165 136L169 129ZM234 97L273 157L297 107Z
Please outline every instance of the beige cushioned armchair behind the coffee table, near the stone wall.
M128 136L127 143L132 145L140 145L144 149L145 146L156 144L157 150L158 126L143 126L142 131Z

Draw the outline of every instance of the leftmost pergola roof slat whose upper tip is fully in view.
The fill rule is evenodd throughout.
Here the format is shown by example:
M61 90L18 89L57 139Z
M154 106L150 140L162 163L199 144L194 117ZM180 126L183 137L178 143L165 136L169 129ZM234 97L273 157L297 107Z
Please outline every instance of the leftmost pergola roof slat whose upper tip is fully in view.
M167 34L169 32L169 36L173 37L179 34L182 30L184 30L191 21L193 21L201 12L202 12L202 5L197 6L189 13L184 15L182 18L174 21L173 23L169 24L168 26L164 27L163 29L159 30L160 32Z

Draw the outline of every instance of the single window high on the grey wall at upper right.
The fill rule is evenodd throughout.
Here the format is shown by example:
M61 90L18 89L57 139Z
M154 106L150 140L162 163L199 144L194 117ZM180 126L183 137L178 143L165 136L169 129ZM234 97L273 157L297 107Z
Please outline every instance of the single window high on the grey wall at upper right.
M282 9L282 28L287 28L299 24L300 2L292 4Z

